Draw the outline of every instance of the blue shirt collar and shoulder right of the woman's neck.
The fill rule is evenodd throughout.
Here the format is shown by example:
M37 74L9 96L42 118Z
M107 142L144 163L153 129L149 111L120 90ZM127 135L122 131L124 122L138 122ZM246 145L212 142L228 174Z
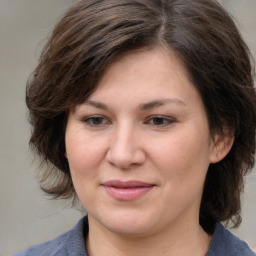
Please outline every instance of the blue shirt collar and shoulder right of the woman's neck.
M207 256L255 256L246 242L218 223Z

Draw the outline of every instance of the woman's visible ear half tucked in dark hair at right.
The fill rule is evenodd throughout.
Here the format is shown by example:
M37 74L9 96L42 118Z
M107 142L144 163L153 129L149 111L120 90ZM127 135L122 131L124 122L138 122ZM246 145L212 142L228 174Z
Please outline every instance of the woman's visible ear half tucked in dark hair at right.
M223 132L214 135L210 155L210 163L218 163L229 153L234 143L234 135L230 130L223 129Z

